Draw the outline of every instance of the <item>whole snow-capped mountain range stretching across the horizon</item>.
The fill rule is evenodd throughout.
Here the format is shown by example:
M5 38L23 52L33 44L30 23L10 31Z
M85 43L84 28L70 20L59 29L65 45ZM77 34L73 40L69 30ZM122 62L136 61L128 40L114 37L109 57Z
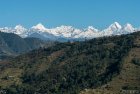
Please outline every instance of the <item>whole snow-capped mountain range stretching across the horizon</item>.
M56 28L46 28L41 23L36 26L26 29L21 25L17 25L14 28L4 27L0 28L1 32L14 33L23 38L36 37L44 40L74 40L74 39L91 39L103 36L122 35L136 32L138 29L134 28L131 24L127 23L121 26L118 22L114 22L108 28L104 30L98 30L93 26L89 26L85 29L77 29L72 26L60 26Z

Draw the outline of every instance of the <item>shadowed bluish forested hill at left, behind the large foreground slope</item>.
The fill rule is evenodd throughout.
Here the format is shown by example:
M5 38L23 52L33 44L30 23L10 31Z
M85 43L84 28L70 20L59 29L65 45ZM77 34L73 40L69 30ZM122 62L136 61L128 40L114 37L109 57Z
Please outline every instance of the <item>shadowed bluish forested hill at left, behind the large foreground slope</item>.
M40 47L48 47L53 42L37 38L21 38L13 33L0 32L0 60L15 57Z

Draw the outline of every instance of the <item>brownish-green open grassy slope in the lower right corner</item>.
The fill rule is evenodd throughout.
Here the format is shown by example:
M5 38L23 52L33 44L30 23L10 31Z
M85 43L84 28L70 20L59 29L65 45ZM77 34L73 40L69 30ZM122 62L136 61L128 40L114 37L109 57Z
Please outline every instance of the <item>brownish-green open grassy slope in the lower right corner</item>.
M120 74L107 84L85 89L80 94L139 94L140 93L140 37L135 36L134 46L123 57Z

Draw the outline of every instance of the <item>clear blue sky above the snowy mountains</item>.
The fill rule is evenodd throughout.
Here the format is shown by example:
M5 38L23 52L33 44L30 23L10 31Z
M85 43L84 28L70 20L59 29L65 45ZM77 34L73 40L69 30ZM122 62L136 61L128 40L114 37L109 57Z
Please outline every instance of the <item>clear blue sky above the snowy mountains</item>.
M140 0L0 0L0 27L71 25L103 29L117 21L140 26Z

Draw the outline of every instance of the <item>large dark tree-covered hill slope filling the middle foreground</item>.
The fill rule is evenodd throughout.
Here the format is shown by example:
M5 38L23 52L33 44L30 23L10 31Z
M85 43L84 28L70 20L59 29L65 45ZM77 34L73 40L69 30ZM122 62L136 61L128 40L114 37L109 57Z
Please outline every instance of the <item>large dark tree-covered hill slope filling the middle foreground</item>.
M1 67L0 86L9 94L78 94L98 88L120 74L129 51L140 46L139 36L136 32L31 51Z

